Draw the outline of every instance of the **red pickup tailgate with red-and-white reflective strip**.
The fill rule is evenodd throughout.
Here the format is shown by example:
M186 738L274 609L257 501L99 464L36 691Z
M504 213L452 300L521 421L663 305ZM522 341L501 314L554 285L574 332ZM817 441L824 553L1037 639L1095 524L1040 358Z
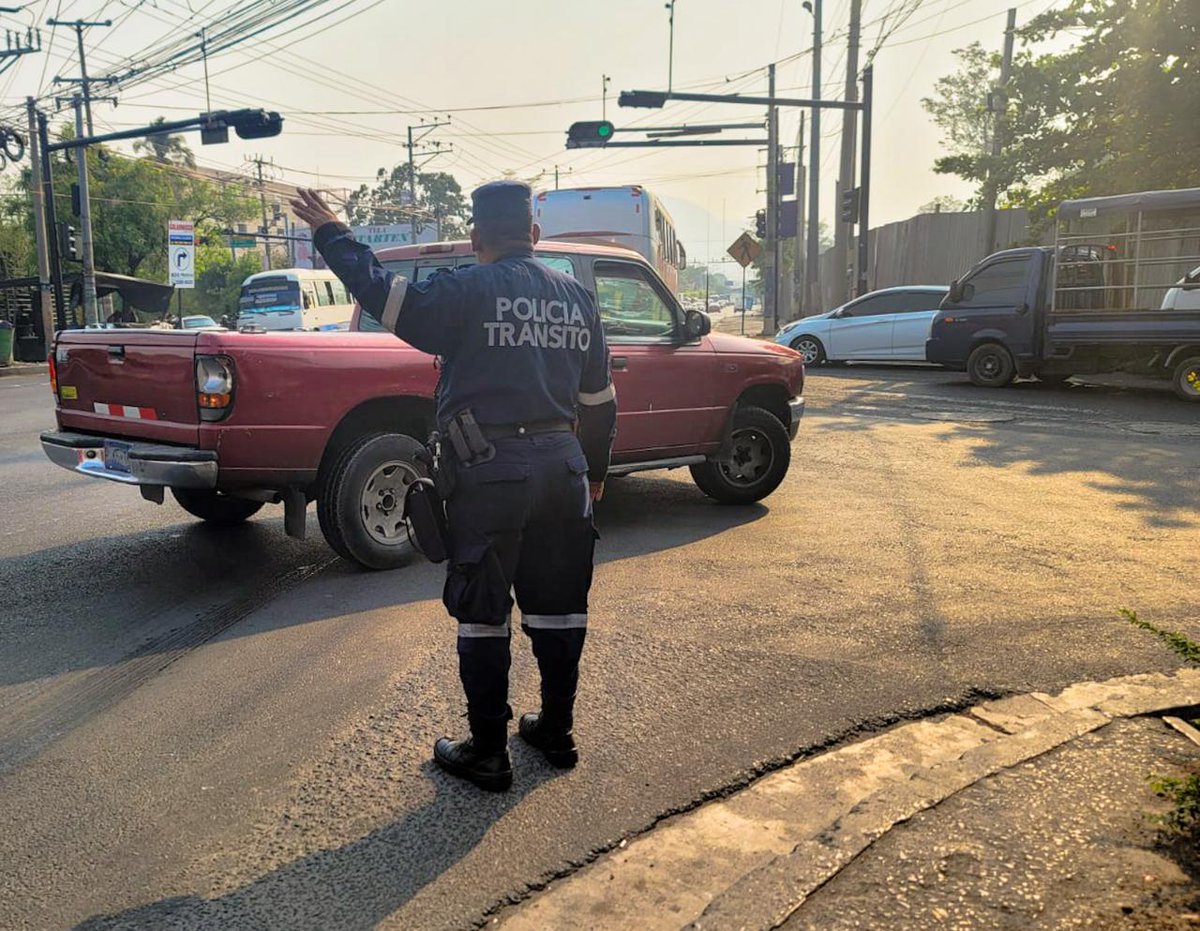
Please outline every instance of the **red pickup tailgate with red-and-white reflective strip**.
M54 361L59 426L196 445L196 343L180 330L67 330Z

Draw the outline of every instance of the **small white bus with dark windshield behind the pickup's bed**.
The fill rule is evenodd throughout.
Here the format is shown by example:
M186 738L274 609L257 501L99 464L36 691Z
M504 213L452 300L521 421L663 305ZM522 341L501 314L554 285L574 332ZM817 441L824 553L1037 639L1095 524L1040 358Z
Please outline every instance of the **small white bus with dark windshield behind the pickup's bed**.
M238 298L238 329L346 330L354 299L329 269L277 269L251 275Z

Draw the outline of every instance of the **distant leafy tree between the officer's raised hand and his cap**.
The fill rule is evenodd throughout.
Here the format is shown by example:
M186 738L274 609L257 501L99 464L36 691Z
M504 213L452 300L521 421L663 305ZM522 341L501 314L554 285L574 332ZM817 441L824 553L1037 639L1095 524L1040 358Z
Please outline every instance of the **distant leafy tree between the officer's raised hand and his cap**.
M442 239L467 235L467 199L454 175L446 172L418 172L416 202L409 204L409 169L403 162L391 172L380 168L373 187L362 185L346 202L355 226L415 222L416 233L440 224Z

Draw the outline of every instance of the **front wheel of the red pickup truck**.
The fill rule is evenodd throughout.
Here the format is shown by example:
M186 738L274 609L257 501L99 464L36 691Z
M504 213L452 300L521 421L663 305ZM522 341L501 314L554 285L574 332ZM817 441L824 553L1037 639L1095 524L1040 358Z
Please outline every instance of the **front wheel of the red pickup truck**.
M744 407L733 416L722 457L691 467L691 479L722 504L751 504L770 494L787 475L792 444L774 414Z

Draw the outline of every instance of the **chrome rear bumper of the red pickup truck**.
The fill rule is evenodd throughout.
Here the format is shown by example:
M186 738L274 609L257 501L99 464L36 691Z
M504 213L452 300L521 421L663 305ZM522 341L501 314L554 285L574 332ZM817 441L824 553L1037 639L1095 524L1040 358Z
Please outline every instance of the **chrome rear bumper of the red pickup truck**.
M125 485L166 485L172 488L215 488L217 454L191 446L130 443L130 470L110 469L104 462L103 437L52 431L42 434L42 451L55 466Z

